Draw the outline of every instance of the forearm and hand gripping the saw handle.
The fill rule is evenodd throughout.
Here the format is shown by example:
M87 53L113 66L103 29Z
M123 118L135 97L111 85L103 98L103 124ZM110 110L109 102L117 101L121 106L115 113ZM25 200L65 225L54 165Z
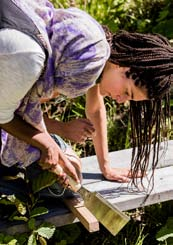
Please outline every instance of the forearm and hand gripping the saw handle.
M65 173L79 182L74 166L64 156L48 132L34 128L17 115L14 116L12 121L0 124L0 127L14 137L40 149L41 158L39 162L43 169L53 170L56 164L60 164Z

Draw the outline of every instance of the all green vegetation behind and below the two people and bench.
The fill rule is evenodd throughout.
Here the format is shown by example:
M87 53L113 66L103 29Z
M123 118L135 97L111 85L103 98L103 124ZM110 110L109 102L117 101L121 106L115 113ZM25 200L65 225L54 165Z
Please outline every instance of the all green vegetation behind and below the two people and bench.
M113 32L120 29L142 33L156 32L173 39L172 0L52 0L52 3L57 8L70 6L81 8L91 14L101 24L107 25ZM107 108L110 151L130 147L128 104L118 105L110 98L105 98L105 105ZM76 117L85 117L84 108L85 96L82 96L73 100L62 101L58 104L58 107L54 101L47 103L44 105L43 110L52 118L68 121ZM85 145L73 145L73 148L82 157L95 154L90 141L87 141ZM34 217L43 214L46 210L44 208L37 209L37 215L36 211L32 210L29 212L29 218L27 218L25 217L24 203L14 199L14 197L13 199L10 198L5 197L4 199L4 197L1 197L0 204L8 206L13 203L20 216L15 216L15 211L15 215L13 213L10 218L28 222L31 233L16 236L0 233L1 245L173 245L172 202L160 203L128 212L128 215L131 216L131 221L116 237L113 237L103 227L101 227L99 232L90 234L81 224L73 224L56 229L51 225L45 226L44 230L43 227L37 228ZM37 200L33 197L31 199L30 203L32 205L30 204L30 206L33 207ZM9 211L8 209L7 212Z

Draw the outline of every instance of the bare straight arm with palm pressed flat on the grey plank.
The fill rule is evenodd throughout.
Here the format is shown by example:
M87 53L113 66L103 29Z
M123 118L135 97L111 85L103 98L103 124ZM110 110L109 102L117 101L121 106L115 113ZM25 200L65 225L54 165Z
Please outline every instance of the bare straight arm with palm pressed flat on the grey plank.
M92 87L86 96L86 115L93 123L95 133L93 143L99 162L100 170L106 179L128 182L129 169L111 168L108 155L107 119L104 100L100 94L99 85Z

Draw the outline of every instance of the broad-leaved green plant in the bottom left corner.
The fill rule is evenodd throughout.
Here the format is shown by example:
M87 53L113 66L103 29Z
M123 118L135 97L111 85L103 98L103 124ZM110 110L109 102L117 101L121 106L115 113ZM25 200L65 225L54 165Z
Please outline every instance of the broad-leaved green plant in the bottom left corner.
M25 176L26 178L26 176ZM14 181L14 180L11 180ZM29 187L32 185L29 179L24 179ZM36 217L47 214L48 209L39 205L38 197L35 193L39 190L50 186L56 181L55 175L49 173L48 171L42 172L40 176L33 181L33 191L30 191L29 199L26 202L17 198L15 194L0 196L1 206L6 206L4 208L6 212L9 212L8 219L10 221L18 220L27 223L30 232L27 234L20 234L15 236L9 236L7 234L0 234L0 244L19 244L23 245L33 245L33 244L47 244L54 232L55 226L49 223L42 223L40 226L36 225ZM36 206L37 205L37 206ZM8 206L13 206L12 210L8 209Z

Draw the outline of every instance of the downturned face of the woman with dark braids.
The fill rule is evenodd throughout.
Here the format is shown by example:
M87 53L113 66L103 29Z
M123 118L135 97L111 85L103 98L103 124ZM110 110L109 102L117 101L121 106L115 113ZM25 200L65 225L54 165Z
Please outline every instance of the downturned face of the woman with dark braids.
M99 84L101 95L109 96L117 103L128 100L147 100L146 90L135 86L134 80L126 77L128 70L128 67L107 62Z

